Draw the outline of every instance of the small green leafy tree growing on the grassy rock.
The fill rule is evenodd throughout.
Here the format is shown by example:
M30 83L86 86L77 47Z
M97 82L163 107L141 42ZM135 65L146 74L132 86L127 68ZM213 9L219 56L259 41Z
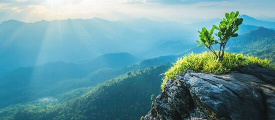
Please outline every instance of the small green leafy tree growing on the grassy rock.
M236 37L238 36L238 33L236 31L239 29L239 25L242 23L243 19L239 18L239 11L225 13L225 18L223 18L218 26L213 25L212 29L207 30L205 27L201 29L201 31L198 31L200 33L199 37L200 40L197 40L198 44L197 46L204 46L208 49L210 49L215 56L221 60L224 55L224 48L227 43L227 41L230 39L230 37ZM218 39L214 39L214 36L212 36L214 29L218 30L218 33L215 33L216 36L218 36ZM215 51L213 46L214 44L220 44L218 51Z

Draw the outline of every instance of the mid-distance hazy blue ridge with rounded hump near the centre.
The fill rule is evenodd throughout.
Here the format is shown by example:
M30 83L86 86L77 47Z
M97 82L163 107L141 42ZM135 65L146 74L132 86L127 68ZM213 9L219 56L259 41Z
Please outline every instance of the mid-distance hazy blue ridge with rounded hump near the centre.
M121 68L137 61L138 58L136 56L127 52L108 53L100 55L86 63L57 61L39 66L20 67L3 74L1 82L7 81L9 82L8 84L20 86L28 84L29 80L33 80L33 82L45 82L41 85L47 85L47 83L53 83L57 80L81 78L87 76L92 71L101 68ZM22 83L14 82L18 79L21 79ZM2 85L5 87L6 84L1 84L1 86Z

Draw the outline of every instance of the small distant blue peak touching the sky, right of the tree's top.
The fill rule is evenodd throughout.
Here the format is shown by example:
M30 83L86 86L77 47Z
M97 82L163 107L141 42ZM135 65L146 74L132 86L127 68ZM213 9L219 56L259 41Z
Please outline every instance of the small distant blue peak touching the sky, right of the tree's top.
M263 26L265 28L275 29L275 22L258 20L245 14L241 15L240 17L244 19L243 24Z

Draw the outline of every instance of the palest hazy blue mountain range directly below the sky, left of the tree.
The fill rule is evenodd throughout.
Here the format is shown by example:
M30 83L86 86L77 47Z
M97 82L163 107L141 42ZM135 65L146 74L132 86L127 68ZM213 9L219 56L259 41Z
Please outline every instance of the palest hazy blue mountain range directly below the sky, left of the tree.
M144 29L140 29L141 27ZM101 18L0 24L0 73L51 61L76 62L109 52L138 53L162 39L188 42L179 22L149 19L109 21Z

